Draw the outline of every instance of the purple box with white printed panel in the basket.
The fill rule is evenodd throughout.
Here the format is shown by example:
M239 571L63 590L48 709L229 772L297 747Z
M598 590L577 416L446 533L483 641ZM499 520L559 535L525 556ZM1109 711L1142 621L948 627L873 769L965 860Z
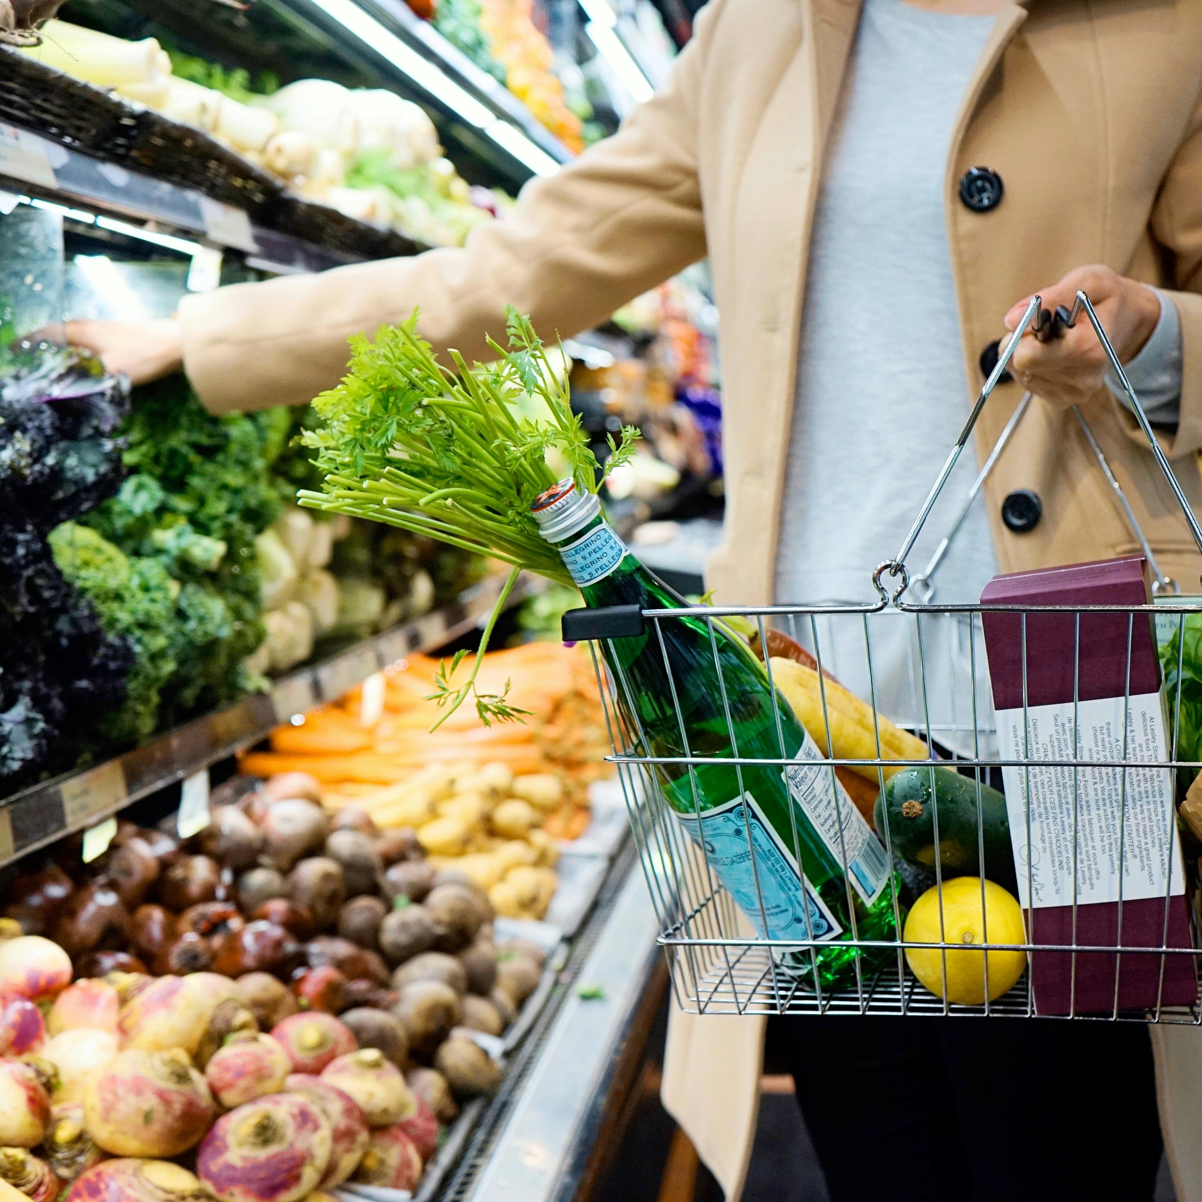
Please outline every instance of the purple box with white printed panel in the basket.
M998 576L981 603L1135 606L1149 593L1129 557ZM1001 760L1170 758L1150 614L986 613L982 626ZM1170 769L1004 766L1002 778L1031 944L1192 946ZM1197 996L1180 953L1077 952L1073 969L1070 952L1034 952L1030 974L1040 1014Z

